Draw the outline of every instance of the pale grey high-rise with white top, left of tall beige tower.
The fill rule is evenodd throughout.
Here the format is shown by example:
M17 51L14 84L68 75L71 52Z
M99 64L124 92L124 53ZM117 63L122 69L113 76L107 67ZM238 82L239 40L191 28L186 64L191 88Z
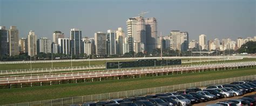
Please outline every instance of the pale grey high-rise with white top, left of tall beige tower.
M106 33L106 50L107 55L116 55L118 54L118 44L117 44L117 35L115 31L107 30Z

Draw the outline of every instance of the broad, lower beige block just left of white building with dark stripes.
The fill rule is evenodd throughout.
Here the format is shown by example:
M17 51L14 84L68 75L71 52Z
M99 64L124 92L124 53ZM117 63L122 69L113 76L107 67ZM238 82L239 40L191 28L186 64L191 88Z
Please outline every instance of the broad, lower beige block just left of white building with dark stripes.
M37 39L37 53L51 53L51 39L41 37Z

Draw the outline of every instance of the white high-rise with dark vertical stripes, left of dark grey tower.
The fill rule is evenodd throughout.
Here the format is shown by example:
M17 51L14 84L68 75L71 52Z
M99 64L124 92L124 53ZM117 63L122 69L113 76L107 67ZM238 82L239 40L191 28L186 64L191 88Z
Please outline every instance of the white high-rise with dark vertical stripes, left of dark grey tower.
M58 39L59 53L69 54L70 53L70 41L69 38L59 38Z

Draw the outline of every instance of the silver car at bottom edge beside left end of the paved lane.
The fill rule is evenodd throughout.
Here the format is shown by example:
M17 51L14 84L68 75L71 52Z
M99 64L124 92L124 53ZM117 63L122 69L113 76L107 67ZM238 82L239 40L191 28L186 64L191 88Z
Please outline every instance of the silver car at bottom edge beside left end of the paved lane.
M180 95L172 95L169 97L171 97L174 101L178 102L179 105L191 105L190 100L188 100L187 98L184 98Z

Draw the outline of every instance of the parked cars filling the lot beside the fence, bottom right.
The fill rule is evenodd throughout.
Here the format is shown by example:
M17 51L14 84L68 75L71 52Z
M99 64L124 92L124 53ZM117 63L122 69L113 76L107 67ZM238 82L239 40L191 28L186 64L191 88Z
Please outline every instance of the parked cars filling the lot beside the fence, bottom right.
M87 102L82 106L172 106L192 105L200 102L217 100L219 98L241 96L256 91L256 80L232 82L230 84L208 86L206 89L188 88L175 93L114 99L110 101ZM256 94L241 97L237 100L221 101L210 105L256 105ZM77 105L72 105L77 106Z

